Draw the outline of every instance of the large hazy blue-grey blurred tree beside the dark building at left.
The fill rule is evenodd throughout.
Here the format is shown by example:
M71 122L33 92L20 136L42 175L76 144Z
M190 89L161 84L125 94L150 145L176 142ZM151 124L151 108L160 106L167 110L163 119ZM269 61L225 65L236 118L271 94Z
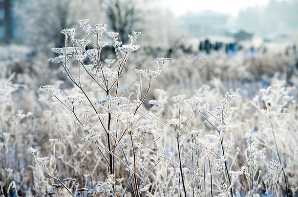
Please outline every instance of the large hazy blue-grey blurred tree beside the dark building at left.
M19 40L43 49L64 46L61 30L78 27L77 20L100 17L97 0L17 0ZM46 46L46 47L45 47Z

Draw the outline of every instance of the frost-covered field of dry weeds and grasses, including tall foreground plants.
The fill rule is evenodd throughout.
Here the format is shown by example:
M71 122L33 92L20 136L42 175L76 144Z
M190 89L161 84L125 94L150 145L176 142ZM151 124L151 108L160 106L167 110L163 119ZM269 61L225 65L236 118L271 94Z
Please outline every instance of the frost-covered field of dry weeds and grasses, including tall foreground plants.
M6 51L0 194L298 195L297 52L155 59L87 22L56 57Z

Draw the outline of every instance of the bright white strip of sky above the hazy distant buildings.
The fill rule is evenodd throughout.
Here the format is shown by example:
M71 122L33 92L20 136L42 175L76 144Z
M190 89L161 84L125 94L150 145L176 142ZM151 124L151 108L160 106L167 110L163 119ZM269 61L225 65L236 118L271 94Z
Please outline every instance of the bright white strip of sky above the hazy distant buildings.
M163 6L169 8L176 17L187 12L204 10L236 16L242 8L262 6L268 2L269 0L163 0Z

